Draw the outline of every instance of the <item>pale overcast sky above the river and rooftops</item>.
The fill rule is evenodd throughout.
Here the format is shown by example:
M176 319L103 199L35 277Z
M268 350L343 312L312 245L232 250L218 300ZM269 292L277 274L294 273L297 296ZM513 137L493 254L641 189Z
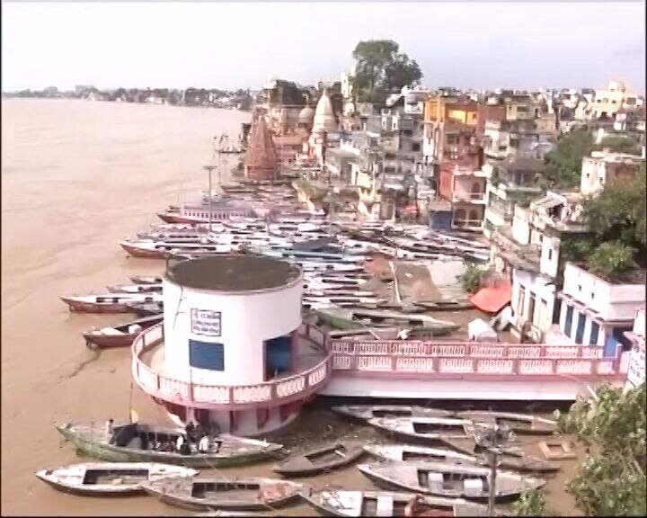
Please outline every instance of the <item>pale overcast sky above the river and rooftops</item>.
M359 40L393 39L424 84L644 93L643 2L3 2L2 89L237 88L339 79Z

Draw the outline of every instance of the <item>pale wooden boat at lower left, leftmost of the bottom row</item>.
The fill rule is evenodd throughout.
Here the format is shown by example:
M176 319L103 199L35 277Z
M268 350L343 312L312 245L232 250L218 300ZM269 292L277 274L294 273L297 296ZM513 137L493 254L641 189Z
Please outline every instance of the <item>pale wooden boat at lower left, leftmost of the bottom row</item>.
M124 496L143 493L142 483L146 481L197 474L195 469L155 462L85 462L65 468L40 469L36 477L74 495Z

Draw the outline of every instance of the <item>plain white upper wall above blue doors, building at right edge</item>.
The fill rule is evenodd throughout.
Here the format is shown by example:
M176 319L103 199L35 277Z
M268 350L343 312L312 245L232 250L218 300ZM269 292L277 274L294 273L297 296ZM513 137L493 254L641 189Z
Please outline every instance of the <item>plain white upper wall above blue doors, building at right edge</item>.
M564 268L563 292L604 320L634 320L645 305L643 284L611 284L573 263Z

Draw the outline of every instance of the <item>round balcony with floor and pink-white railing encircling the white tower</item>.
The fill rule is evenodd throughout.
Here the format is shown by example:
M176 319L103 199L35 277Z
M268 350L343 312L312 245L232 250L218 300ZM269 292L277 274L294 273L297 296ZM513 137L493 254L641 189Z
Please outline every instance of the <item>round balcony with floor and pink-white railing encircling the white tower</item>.
M323 337L308 326L297 341L301 355L297 374L255 385L211 385L180 380L164 374L164 324L146 329L132 345L132 373L137 385L152 397L177 405L209 409L241 410L258 406L279 406L303 400L328 381L331 373L329 353L313 353L314 342ZM308 351L309 349L309 351Z

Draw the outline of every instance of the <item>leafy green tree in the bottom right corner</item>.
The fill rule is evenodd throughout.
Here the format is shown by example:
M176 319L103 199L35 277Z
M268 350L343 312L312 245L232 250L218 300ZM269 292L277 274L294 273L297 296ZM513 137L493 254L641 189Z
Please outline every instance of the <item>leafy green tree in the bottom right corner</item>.
M625 393L606 385L560 416L563 431L587 447L567 488L588 516L647 514L645 405L644 382Z

